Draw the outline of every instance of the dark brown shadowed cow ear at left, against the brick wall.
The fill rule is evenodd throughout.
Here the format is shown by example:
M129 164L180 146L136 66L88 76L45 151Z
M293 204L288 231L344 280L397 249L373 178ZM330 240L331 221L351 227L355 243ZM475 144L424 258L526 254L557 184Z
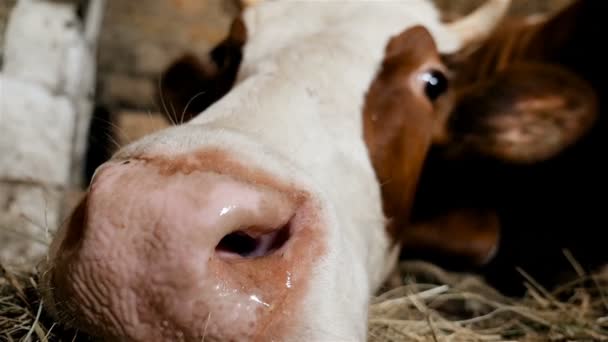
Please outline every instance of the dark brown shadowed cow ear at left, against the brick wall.
M175 123L189 121L222 98L234 85L247 32L235 19L228 37L211 53L212 63L185 55L161 76L157 102Z

